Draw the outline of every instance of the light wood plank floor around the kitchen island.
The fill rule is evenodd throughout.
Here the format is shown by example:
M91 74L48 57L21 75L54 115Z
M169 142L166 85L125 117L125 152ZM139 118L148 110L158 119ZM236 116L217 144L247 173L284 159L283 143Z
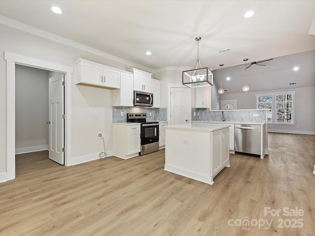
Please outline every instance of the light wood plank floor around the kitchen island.
M16 179L0 183L0 235L315 236L315 135L268 141L263 160L230 155L213 185L164 171L163 150L72 167L46 151L17 155ZM264 207L304 214L272 217ZM237 226L245 219L250 226ZM289 227L295 219L303 227ZM255 225L266 220L269 229Z

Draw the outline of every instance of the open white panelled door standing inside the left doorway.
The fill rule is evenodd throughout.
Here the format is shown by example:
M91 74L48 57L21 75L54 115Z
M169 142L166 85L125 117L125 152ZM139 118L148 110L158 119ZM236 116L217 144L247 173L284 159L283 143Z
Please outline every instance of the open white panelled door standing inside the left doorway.
M64 164L64 74L49 79L49 159Z

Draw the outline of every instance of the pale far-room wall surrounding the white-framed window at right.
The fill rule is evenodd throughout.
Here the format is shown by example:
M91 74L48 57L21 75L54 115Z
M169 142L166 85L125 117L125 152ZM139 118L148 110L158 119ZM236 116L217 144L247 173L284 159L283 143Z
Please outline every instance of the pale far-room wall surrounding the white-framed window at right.
M280 89L259 92L223 93L221 100L237 100L237 109L256 109L256 97L258 93L295 91L295 124L268 124L268 130L274 132L315 134L315 87ZM296 126L299 126L297 128Z

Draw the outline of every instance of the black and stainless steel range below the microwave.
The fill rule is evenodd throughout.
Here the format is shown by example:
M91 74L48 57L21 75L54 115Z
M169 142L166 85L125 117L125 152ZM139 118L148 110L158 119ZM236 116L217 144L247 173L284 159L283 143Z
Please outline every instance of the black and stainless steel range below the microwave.
M128 113L127 122L140 123L141 125L141 151L139 155L145 155L158 151L158 122L147 122L145 113Z

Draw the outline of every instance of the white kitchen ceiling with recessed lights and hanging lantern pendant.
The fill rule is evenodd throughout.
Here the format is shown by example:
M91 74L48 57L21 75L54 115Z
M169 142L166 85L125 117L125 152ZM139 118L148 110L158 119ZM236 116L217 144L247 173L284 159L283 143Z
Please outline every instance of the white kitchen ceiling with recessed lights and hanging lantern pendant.
M0 15L151 69L193 67L196 36L212 70L315 50L315 0L0 0Z

